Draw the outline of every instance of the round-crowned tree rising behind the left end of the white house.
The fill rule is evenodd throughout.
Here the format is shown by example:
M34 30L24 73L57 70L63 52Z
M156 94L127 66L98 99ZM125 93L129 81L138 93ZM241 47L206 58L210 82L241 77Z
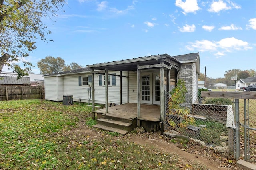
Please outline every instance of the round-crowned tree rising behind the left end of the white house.
M65 61L60 57L54 58L52 56L47 56L45 59L40 59L40 61L37 62L37 67L42 74L59 73L63 71Z

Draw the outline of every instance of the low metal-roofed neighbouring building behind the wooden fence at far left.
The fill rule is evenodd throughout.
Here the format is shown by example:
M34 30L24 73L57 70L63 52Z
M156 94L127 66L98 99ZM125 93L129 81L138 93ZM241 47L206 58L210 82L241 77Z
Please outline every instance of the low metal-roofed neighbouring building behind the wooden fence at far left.
M17 79L17 73L13 72L2 72L0 73L0 85L30 85L30 78L29 77L21 77Z

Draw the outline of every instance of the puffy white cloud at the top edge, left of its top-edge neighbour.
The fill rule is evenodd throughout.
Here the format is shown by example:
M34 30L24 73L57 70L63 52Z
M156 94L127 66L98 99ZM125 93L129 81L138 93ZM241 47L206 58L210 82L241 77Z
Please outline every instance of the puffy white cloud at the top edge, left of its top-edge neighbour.
M180 7L184 11L182 13L185 15L190 12L196 13L196 11L200 10L197 0L185 0L185 2L182 0L176 0L175 5Z

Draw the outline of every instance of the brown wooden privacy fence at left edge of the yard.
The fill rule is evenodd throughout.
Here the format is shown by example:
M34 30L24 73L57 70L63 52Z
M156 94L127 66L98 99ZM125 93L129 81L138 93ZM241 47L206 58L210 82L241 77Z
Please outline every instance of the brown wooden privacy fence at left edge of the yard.
M44 85L4 86L0 85L0 101L19 99L44 99Z

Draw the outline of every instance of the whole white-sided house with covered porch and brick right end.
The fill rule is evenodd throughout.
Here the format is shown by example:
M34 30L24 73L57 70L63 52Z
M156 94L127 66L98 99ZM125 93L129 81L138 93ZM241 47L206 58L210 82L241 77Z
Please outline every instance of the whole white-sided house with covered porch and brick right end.
M197 101L199 53L171 57L168 54L88 65L88 67L44 75L45 99L63 101L63 95L72 95L73 101L92 103L93 117L97 113L105 124L121 119L131 121L127 133L136 126L147 129L158 127L164 120L164 95L175 87L178 79L186 81L187 97L184 106ZM95 104L105 104L95 109ZM109 107L110 105L114 105ZM109 119L104 119L112 114ZM116 123L116 122L115 122ZM117 125L112 125L117 126ZM119 126L119 125L118 125Z

